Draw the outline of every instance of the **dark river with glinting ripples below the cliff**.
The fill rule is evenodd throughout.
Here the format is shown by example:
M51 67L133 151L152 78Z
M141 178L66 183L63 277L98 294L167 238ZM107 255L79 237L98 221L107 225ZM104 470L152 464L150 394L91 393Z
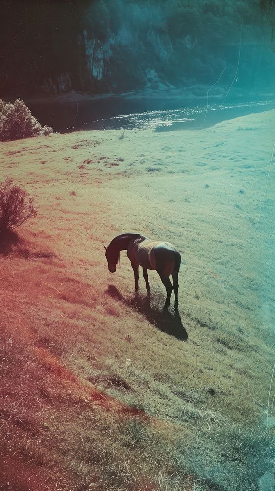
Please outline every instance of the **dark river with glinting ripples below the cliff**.
M127 99L108 97L88 101L28 103L38 121L54 131L147 129L156 131L205 128L223 120L275 108L275 101L207 104L203 100Z

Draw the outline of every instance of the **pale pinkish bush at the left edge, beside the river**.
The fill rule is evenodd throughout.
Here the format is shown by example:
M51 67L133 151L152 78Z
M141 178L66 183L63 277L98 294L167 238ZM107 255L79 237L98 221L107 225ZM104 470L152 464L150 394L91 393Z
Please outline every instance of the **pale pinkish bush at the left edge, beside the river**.
M42 128L25 103L17 99L14 104L0 99L0 141L18 140L53 133L47 125Z

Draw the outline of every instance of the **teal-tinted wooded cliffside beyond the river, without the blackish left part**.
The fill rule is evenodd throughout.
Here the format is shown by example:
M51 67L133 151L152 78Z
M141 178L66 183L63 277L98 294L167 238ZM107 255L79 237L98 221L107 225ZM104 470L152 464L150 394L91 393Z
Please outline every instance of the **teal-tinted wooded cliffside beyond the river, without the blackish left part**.
M236 84L256 91L274 75L270 14L267 0L87 1L82 30L88 39L109 42L112 50L104 76L92 80L94 90L211 84L224 68L226 87L234 78L241 43Z

